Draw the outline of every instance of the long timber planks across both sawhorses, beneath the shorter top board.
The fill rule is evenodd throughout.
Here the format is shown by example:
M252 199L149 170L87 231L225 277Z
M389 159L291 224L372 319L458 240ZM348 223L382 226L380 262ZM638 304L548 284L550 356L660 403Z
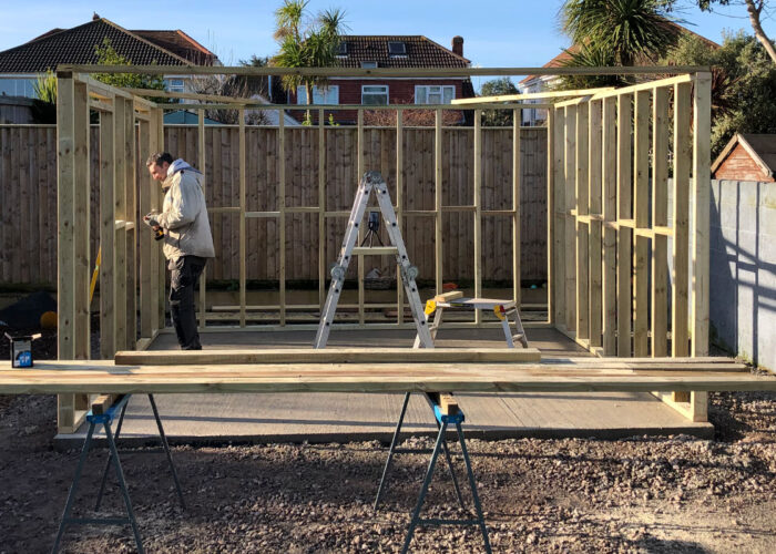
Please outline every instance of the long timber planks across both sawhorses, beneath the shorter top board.
M187 392L521 392L776 390L776 377L727 370L673 371L553 363L266 363L233 366L111 366L42 362L33 370L0 370L0 393ZM691 367L687 365L686 367ZM735 368L735 369L733 369Z

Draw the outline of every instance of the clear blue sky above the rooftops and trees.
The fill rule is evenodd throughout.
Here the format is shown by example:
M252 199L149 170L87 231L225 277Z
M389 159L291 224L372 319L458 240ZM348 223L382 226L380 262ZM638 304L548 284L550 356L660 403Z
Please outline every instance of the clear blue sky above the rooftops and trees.
M94 10L125 29L181 29L215 52L225 65L251 55L273 55L274 11L282 0L111 1L0 0L0 51L53 28L91 20ZM312 13L329 8L346 12L349 34L422 34L450 48L463 37L463 55L482 68L541 66L569 40L558 30L562 0L310 0ZM743 6L703 13L690 0L678 14L698 34L722 42L723 32L752 28ZM776 37L776 19L763 21ZM479 81L487 80L482 78ZM474 80L479 88L481 83Z

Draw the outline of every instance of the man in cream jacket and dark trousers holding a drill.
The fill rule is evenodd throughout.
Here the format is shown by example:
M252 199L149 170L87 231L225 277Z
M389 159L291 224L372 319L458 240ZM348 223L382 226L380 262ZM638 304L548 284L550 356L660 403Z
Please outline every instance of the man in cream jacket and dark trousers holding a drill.
M161 214L149 214L146 222L164 233L163 252L170 275L170 312L183 350L202 350L194 310L194 285L207 258L215 257L207 219L204 175L183 160L166 153L153 154L145 163L151 177L165 191Z

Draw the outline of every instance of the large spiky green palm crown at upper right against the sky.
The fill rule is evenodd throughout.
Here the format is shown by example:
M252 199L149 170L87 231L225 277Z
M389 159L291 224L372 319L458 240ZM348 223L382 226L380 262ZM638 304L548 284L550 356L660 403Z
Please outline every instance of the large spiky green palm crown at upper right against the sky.
M609 51L619 65L655 61L675 42L677 29L665 0L568 0L561 30L574 44Z

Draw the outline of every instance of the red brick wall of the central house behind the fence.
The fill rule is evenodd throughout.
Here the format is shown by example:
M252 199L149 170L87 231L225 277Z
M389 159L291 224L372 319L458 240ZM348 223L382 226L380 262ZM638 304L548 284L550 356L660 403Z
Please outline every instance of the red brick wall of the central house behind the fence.
M389 104L413 104L415 103L415 85L455 85L456 98L460 99L463 95L462 81L460 79L423 79L423 80L392 80L392 79L331 79L329 84L339 86L339 103L340 104L360 104L361 103L361 85L388 85L388 103ZM296 103L296 94L288 94L288 103ZM297 120L304 119L304 112L293 112L292 115ZM328 117L328 114L327 114ZM337 123L356 123L357 114L353 110L340 110L334 112L334 121ZM313 120L317 121L317 113L313 113Z

